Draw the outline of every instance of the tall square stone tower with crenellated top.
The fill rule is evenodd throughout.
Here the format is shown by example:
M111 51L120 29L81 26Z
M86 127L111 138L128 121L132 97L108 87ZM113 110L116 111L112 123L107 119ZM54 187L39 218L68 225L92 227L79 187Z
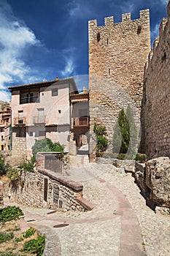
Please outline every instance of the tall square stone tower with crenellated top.
M107 127L108 151L112 151L112 135L121 108L131 104L136 119L142 100L144 64L150 53L150 13L140 11L140 18L131 20L131 13L122 15L121 23L113 17L88 23L89 89L90 89L90 156L95 153L94 123Z

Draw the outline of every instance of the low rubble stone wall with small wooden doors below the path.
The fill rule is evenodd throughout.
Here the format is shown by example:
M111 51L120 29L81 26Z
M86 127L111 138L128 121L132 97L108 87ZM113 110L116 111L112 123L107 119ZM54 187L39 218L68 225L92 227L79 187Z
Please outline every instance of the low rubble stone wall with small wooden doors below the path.
M64 177L57 178L50 170L40 169L35 173L23 172L20 181L9 187L11 201L37 208L61 208L64 211L85 208L77 202L82 197L82 185Z

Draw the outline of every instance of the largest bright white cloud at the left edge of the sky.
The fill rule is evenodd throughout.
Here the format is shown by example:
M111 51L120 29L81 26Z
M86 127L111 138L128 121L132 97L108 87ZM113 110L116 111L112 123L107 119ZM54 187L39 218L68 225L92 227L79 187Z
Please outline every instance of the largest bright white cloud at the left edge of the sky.
M0 4L0 89L5 89L7 83L33 80L31 68L22 59L33 45L40 45L34 32L15 18L7 2Z

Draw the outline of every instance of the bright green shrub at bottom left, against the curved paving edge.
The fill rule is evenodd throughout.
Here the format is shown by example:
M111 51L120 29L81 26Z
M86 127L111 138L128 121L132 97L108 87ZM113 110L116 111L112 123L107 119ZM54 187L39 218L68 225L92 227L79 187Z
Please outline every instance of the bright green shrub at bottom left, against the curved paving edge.
M38 236L37 239L26 241L23 245L24 252L30 252L41 256L45 249L45 236Z

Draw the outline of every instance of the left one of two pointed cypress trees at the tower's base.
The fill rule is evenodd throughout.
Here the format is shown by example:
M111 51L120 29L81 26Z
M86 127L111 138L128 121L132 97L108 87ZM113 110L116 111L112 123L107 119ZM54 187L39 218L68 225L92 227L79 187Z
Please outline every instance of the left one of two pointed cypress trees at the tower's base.
M120 110L113 135L113 152L125 154L128 151L131 133L125 111Z

